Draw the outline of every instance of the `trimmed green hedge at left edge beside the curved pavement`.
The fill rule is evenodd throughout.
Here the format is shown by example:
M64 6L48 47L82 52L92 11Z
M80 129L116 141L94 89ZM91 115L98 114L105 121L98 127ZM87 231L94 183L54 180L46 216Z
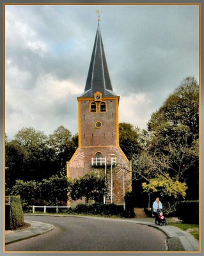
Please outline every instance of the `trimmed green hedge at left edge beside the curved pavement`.
M10 205L6 206L9 209L6 216L6 222L9 223L8 229L13 230L22 227L24 224L24 212L22 211L20 196L10 196Z

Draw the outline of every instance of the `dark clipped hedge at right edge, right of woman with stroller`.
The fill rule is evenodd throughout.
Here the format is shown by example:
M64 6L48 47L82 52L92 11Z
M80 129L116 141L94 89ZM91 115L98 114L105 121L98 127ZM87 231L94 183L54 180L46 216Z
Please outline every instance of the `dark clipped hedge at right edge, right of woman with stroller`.
M181 201L177 205L178 219L182 220L183 223L199 223L199 201Z

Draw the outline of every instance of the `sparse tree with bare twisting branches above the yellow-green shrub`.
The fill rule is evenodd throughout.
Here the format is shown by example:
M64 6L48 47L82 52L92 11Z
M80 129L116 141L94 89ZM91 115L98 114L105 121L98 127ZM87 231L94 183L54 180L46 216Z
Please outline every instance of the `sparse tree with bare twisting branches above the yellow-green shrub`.
M168 145L168 154L159 149L154 151L143 150L140 155L134 156L132 168L134 179L150 179L167 174L175 180L185 181L186 173L191 171L198 161L198 141L194 141L192 147L184 145Z

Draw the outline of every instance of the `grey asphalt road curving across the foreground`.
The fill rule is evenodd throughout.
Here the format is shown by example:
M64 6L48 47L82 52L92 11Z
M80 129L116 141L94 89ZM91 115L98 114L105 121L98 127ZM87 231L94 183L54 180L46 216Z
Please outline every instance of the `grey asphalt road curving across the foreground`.
M153 227L96 218L26 216L51 223L47 234L6 246L7 251L164 251L165 235Z

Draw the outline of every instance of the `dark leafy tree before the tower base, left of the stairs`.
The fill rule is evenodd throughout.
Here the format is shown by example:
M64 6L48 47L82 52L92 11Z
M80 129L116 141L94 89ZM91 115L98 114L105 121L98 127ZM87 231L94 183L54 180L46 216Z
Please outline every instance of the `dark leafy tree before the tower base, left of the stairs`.
M95 200L98 203L102 202L104 193L104 177L101 177L97 173L86 173L84 176L72 182L70 198L72 200L78 200L85 197L87 204L89 200Z

